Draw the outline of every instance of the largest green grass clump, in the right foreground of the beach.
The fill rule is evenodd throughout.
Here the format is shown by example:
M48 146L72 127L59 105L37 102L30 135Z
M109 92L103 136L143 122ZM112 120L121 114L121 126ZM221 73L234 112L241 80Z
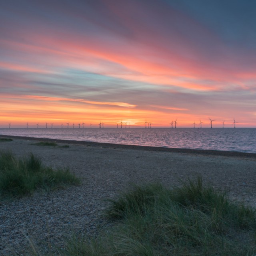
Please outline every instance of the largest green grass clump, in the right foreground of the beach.
M256 254L256 211L230 202L202 179L180 188L135 186L111 200L114 228L68 245L70 256L249 256Z

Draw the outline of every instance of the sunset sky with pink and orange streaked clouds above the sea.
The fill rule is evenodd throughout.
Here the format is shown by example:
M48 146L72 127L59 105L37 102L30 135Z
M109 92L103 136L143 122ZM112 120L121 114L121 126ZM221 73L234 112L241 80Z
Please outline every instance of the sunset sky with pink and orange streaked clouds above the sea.
M256 1L0 2L0 128L256 127Z

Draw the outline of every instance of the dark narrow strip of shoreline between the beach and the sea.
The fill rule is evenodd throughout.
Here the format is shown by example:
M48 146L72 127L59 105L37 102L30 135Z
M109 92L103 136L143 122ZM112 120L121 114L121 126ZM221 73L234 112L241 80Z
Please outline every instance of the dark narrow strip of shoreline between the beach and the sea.
M229 157L241 157L241 158L256 158L256 153L239 152L239 151L222 151L222 150L207 150L207 149L191 149L191 148L166 148L166 147L154 147L154 146L140 146L140 145L128 145L128 144L115 144L106 142L91 142L91 141L80 141L80 140L62 140L52 138L40 138L40 137L27 137L27 136L13 136L13 135L2 135L2 138L12 138L20 140L40 140L48 142L58 142L66 144L93 146L100 148L123 148L132 150L144 150L144 151L160 151L160 152L173 152L173 153L184 153L184 154L200 154L206 156L229 156Z

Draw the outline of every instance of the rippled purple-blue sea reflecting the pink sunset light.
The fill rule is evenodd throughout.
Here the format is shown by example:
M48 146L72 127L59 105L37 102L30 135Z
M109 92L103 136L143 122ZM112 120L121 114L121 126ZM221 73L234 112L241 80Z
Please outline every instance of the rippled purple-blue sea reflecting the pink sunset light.
M2 135L256 153L255 128L2 128Z

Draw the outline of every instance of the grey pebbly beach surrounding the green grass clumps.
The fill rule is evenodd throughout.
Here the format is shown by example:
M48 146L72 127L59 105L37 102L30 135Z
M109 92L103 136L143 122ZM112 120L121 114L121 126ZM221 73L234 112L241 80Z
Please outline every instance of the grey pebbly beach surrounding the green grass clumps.
M200 175L232 200L256 206L256 154L0 137L13 139L0 142L0 150L16 156L32 152L46 165L69 167L82 180L80 186L0 202L0 255L22 255L30 247L27 238L47 252L52 245L63 248L73 233L96 236L108 225L100 216L106 199L132 184L176 186ZM32 145L38 141L69 148Z

